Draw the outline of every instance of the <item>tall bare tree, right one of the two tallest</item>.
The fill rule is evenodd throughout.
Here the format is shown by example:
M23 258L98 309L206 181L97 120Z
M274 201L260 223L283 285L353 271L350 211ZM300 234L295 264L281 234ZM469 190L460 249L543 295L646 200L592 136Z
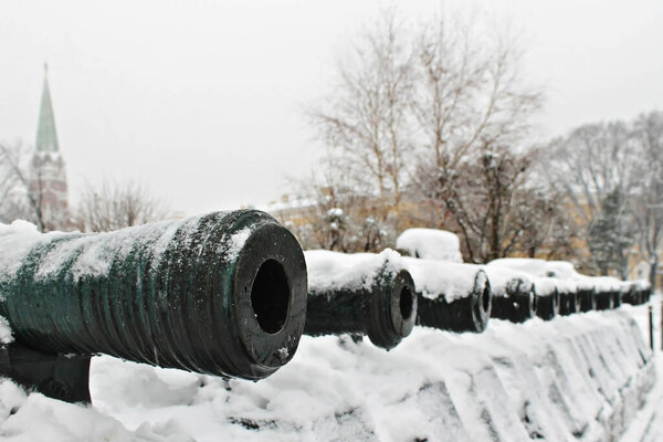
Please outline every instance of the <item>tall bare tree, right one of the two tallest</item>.
M523 80L517 39L504 30L478 33L476 23L441 18L417 39L418 178L441 210L446 192L455 191L460 162L485 146L516 146L543 99Z

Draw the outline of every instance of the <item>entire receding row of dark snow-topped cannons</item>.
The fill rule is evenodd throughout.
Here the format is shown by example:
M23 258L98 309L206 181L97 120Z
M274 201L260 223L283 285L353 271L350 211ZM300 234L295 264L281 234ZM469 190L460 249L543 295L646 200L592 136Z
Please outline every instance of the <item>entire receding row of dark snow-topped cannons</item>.
M529 277L508 262L304 253L254 210L98 234L0 227L0 316L13 336L0 375L72 402L91 401L97 354L259 380L293 358L302 334L367 336L390 349L415 324L478 333L490 317L547 320L641 304L651 292Z

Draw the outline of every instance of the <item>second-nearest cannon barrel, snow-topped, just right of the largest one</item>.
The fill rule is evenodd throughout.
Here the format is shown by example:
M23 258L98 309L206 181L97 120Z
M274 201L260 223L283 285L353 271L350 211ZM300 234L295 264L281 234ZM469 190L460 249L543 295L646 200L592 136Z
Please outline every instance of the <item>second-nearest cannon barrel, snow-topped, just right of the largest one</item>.
M390 349L412 332L414 284L397 252L304 254L308 269L304 334L367 335L376 346Z

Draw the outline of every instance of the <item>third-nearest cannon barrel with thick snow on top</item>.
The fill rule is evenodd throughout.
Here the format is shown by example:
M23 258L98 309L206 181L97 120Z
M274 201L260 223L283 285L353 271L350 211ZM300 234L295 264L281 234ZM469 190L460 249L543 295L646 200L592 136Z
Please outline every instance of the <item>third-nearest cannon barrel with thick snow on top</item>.
M403 261L417 288L417 324L451 332L486 329L493 295L478 265L413 257Z

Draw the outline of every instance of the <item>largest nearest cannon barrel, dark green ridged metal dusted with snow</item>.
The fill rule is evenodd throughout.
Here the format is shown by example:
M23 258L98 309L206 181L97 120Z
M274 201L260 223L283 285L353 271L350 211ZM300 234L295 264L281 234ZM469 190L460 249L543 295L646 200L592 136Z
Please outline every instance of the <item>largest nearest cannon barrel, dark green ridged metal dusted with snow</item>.
M264 212L108 233L7 233L0 315L34 349L255 380L286 364L299 343L304 254Z

